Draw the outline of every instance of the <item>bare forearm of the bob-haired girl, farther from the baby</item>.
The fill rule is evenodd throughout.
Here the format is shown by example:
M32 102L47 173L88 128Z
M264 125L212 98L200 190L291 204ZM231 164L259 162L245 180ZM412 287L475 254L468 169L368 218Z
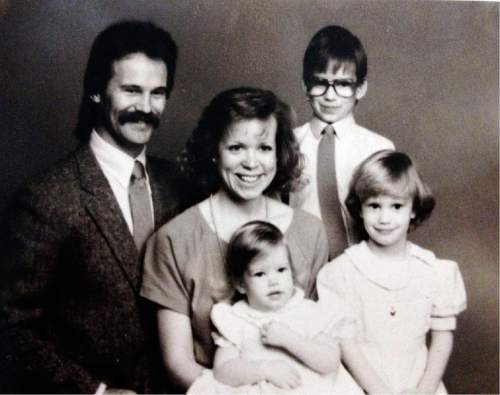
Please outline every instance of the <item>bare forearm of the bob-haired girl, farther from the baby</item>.
M417 386L418 393L434 394L443 378L451 350L453 349L452 331L431 331L431 345L424 375Z

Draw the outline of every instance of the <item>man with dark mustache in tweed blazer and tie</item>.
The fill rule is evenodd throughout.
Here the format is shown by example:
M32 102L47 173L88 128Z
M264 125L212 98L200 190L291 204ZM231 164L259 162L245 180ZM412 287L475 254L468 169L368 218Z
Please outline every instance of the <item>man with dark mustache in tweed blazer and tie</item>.
M177 48L151 23L96 38L78 149L23 188L3 247L0 392L166 392L142 254L177 214L174 165L146 156L172 90Z

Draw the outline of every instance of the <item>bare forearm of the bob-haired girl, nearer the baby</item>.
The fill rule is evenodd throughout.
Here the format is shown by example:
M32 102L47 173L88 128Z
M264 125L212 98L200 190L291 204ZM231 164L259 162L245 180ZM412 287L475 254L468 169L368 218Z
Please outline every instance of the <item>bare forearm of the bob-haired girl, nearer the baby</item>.
M352 340L340 343L342 360L349 367L356 382L369 394L390 394L390 388L378 376L359 345Z

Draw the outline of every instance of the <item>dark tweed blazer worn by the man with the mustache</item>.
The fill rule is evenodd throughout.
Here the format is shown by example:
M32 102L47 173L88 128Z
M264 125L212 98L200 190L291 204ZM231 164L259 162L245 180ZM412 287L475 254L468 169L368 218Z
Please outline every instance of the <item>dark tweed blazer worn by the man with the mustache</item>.
M148 157L158 228L177 214L172 163ZM2 246L0 392L152 392L159 362L142 262L88 145L24 188ZM188 237L188 235L186 235ZM155 350L156 349L156 350ZM158 354L159 355L159 354Z

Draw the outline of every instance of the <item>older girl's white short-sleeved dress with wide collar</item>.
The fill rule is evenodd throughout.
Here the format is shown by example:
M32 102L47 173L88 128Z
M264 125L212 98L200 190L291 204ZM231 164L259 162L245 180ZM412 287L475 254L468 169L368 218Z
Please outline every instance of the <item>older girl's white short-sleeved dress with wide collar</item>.
M398 263L399 264L399 263ZM366 242L348 248L318 274L320 304L340 296L355 320L355 339L395 392L414 388L427 363L429 330L454 330L466 296L458 265L413 243L395 273ZM446 394L443 383L438 394Z

